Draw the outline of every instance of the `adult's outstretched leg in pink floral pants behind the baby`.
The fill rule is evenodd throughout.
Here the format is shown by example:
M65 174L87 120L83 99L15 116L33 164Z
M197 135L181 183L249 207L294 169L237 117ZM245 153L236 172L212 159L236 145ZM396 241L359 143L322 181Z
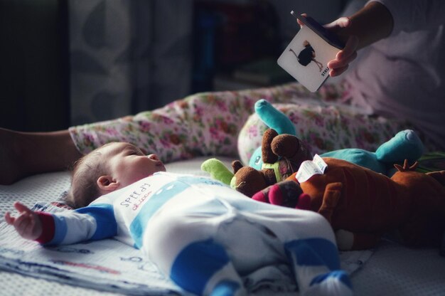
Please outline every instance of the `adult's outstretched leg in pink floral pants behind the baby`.
M259 99L315 97L297 83L252 90L196 93L156 110L70 127L83 154L110 141L131 142L163 162L202 155L237 156L237 135Z

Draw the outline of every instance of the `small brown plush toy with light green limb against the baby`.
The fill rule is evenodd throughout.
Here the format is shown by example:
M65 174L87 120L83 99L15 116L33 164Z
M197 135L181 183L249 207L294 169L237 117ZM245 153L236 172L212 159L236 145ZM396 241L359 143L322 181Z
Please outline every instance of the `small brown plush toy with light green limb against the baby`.
M252 196L269 185L286 179L299 169L301 162L312 159L309 149L290 134L278 134L267 129L262 138L262 169L243 166L239 160L232 162L233 174L218 159L208 159L201 169L213 179L230 184L246 196Z

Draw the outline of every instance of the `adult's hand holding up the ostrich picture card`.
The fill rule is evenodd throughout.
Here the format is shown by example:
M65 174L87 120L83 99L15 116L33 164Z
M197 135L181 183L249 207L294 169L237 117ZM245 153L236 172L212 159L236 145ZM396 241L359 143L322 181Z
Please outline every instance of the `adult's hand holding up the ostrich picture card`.
M306 14L302 14L302 16L306 16ZM304 26L304 23L302 23L298 18L297 22L299 23L300 27ZM328 23L324 26L329 31L337 33L340 38L343 37L342 39L343 41L345 41L345 47L337 53L337 56L334 60L330 60L328 62L328 68L331 69L329 71L329 75L331 75L331 77L335 77L344 73L345 70L348 69L349 64L357 57L359 44L358 37L353 35L342 36L341 34L339 34L345 28L348 28L350 26L350 23L350 18L341 17L338 18L336 21Z

